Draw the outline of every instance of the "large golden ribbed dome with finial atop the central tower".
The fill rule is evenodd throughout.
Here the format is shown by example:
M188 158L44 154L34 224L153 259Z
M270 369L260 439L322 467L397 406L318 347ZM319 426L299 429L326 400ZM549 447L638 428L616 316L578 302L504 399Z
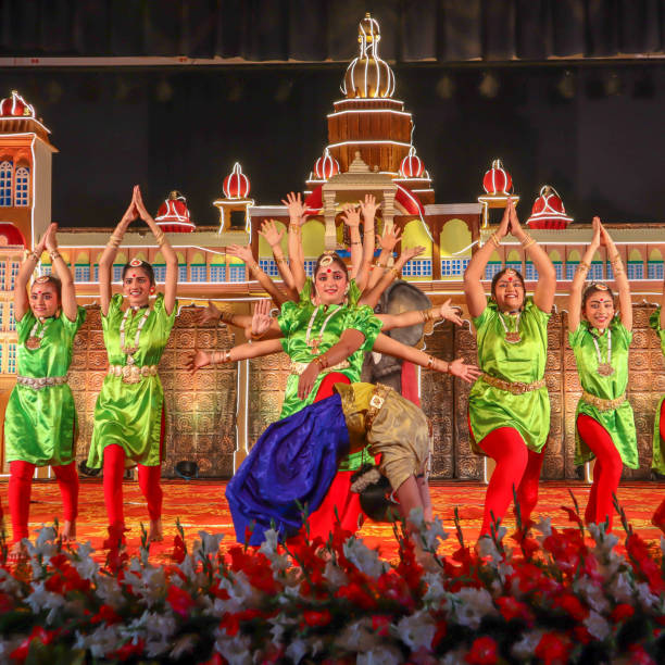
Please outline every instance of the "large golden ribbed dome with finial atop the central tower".
M347 68L341 85L341 91L348 99L392 97L394 74L378 55L380 39L377 21L369 13L365 14L357 27L360 55Z

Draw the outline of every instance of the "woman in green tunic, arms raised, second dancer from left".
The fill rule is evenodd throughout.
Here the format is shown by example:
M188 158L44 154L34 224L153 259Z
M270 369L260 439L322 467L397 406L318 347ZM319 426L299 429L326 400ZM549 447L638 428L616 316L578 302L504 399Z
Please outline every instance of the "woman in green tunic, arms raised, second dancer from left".
M111 296L111 268L127 226L143 219L166 261L164 293L155 292L152 266L133 260L123 268L123 294ZM95 405L95 429L88 466L103 464L104 503L109 516L109 543L123 538L123 475L125 466L138 464L141 492L150 515L149 538L162 540L162 444L165 432L164 391L156 373L176 316L178 261L164 231L150 216L138 185L127 212L111 235L99 262L102 330L109 353L109 374ZM123 298L127 305L123 311Z

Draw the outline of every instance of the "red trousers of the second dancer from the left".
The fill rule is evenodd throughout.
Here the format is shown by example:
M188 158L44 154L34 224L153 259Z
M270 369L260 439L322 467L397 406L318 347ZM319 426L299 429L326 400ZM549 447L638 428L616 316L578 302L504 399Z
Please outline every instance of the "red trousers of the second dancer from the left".
M165 413L162 411L162 430L160 446L164 441ZM160 453L161 457L161 453ZM125 450L122 446L106 446L104 448L104 504L109 526L122 530L125 526L123 507L123 477L125 475ZM148 514L155 522L162 516L163 492L160 486L162 466L143 466L138 464L139 488L148 502Z

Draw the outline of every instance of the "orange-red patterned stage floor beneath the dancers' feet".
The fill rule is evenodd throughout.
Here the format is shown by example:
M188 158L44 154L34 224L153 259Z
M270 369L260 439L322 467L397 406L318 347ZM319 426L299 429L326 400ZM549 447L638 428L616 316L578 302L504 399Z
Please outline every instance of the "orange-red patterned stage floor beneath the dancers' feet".
M226 482L211 480L165 480L164 489L164 542L151 547L151 560L155 563L171 561L173 539L176 535L175 522L179 518L185 529L188 543L191 544L198 531L225 534L222 548L228 549L235 543L235 532L231 524L228 504L224 498ZM560 506L573 506L568 494L570 489L577 499L580 511L584 512L589 495L590 486L582 482L552 481L541 485L537 515L551 517L556 527L568 526L567 515ZM651 544L658 547L661 531L651 525L651 514L663 499L664 482L641 481L625 482L619 488L619 501L624 506L632 527ZM446 481L435 482L431 487L435 514L443 519L449 539L442 547L442 553L451 554L459 545L454 536L453 514L459 507L464 538L475 542L480 527L482 501L486 486L479 482ZM7 504L7 480L0 482L0 495L5 513L5 525L9 527ZM126 481L124 485L125 519L129 527L128 550L135 554L140 544L140 523L148 522L146 502L138 484ZM81 480L79 498L78 537L81 542L90 541L96 550L101 549L105 538L105 511L100 480ZM30 530L42 524L52 524L53 517L61 516L61 502L58 485L54 480L35 480L30 502ZM509 532L514 527L512 514L506 519ZM623 542L624 534L620 523L615 520L615 532ZM392 536L392 527L388 524L366 522L360 536L369 547L378 547L381 556L392 560L397 547ZM658 547L660 549L660 547ZM99 553L98 559L103 559Z

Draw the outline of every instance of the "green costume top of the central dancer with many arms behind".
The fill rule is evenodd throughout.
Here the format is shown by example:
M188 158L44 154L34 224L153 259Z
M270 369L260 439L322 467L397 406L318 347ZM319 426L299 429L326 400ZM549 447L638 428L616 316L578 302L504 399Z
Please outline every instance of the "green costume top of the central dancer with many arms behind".
M311 299L312 280L308 279L300 294L299 302L286 302L281 305L278 323L284 335L281 346L292 363L292 372L287 379L280 418L285 418L303 406L314 402L321 381L329 372L339 372L349 377L351 382L359 381L365 351L371 351L381 331L381 322L375 316L372 308L355 304L360 292L355 280L349 287L348 305L314 306ZM298 398L300 374L317 355L334 347L344 330L360 330L365 340L348 362L341 367L328 367L316 377L314 388L304 399Z

